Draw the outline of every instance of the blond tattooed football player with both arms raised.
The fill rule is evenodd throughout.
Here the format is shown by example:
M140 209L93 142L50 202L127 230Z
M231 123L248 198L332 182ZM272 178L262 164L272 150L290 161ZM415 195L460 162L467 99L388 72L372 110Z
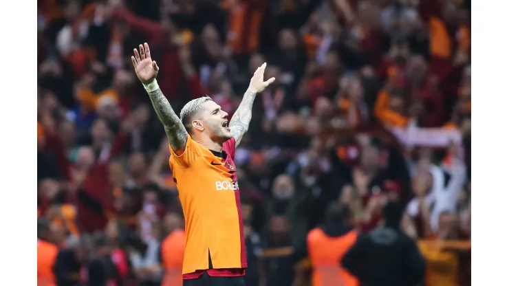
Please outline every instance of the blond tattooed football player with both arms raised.
M231 120L208 96L191 100L178 116L155 79L159 67L152 61L149 45L134 49L131 61L169 139L170 168L186 218L182 278L205 277L217 285L228 278L232 285L243 285L248 263L235 147L248 131L257 94L276 79L264 81L267 63L258 67Z

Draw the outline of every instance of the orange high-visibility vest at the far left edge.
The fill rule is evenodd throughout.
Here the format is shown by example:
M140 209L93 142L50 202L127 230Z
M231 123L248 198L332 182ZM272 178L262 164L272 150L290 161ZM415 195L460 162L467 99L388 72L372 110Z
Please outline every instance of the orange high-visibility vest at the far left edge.
M56 286L53 265L57 254L56 245L37 239L37 286Z

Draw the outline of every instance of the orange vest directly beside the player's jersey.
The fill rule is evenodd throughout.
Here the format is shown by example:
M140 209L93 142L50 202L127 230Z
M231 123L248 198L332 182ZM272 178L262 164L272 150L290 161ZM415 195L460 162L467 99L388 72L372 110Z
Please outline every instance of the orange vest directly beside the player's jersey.
M184 230L175 230L162 241L161 254L164 267L162 286L182 286L182 263L184 263L185 247L186 234Z

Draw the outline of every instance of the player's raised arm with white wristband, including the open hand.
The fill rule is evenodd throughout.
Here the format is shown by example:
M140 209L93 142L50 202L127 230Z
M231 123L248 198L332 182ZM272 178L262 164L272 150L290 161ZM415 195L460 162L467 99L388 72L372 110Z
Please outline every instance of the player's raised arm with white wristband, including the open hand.
M158 118L164 126L164 131L166 131L166 136L170 140L171 148L173 148L175 154L180 155L184 153L187 131L178 115L171 108L170 102L162 94L157 80L155 80L155 77L158 76L159 67L155 61L152 61L149 45L144 43L139 48L140 52L138 53L138 50L134 49L134 56L131 56L136 76L138 76L149 94L155 113L158 114Z

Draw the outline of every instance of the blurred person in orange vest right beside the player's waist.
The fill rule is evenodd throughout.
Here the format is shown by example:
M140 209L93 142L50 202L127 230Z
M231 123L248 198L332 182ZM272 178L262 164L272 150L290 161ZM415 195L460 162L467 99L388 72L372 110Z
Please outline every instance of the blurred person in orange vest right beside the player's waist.
M163 223L167 235L160 248L161 263L164 267L162 286L182 286L182 263L186 246L182 217L170 212L164 217Z

